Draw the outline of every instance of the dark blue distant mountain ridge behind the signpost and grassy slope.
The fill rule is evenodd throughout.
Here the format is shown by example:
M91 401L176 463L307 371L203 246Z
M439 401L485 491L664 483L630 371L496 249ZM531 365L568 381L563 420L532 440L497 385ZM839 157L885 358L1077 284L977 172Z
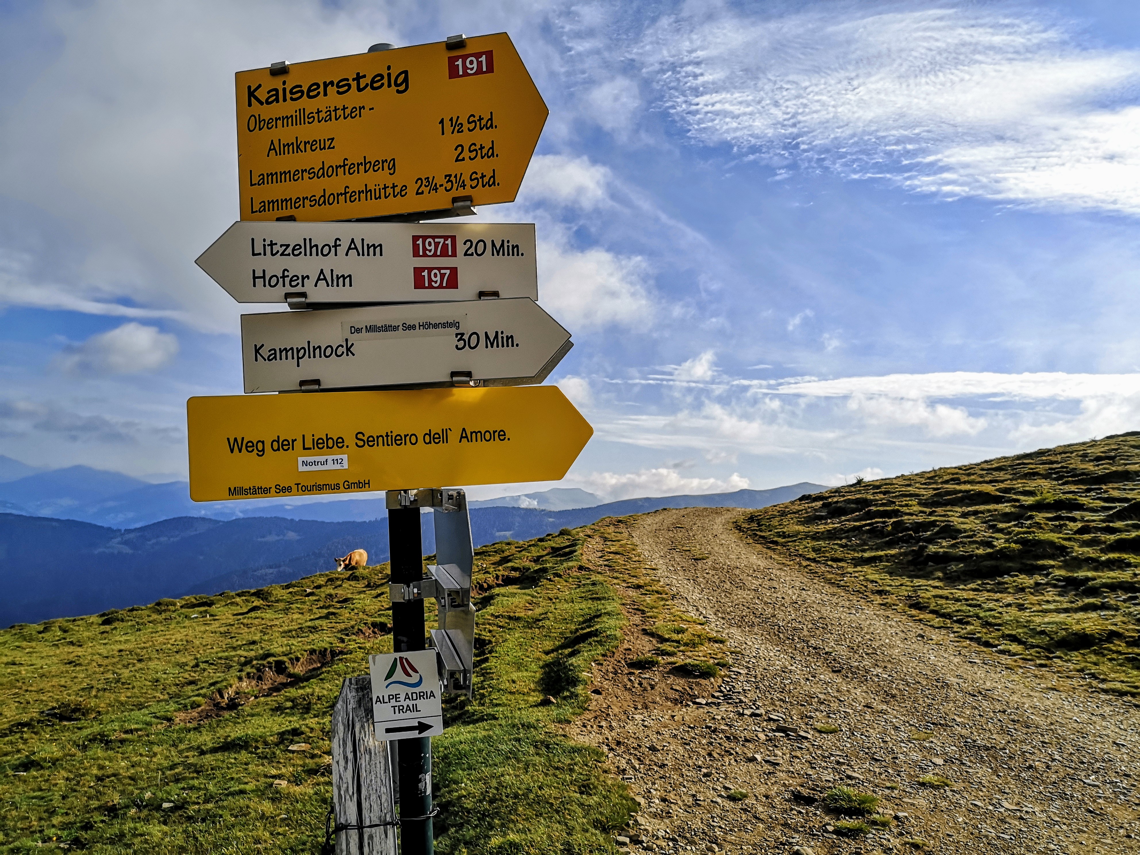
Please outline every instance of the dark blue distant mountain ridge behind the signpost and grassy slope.
M10 483L0 483L0 488ZM637 498L560 511L473 507L471 529L477 545L528 540L603 516L661 507L766 507L822 489L826 488L798 483L772 490ZM423 522L424 553L431 554L435 544L430 513L423 515ZM0 626L90 614L165 596L292 581L332 570L334 557L356 548L368 552L369 563L388 561L386 523L377 519L327 522L260 515L235 520L176 516L123 530L78 520L0 513L0 588L5 592Z

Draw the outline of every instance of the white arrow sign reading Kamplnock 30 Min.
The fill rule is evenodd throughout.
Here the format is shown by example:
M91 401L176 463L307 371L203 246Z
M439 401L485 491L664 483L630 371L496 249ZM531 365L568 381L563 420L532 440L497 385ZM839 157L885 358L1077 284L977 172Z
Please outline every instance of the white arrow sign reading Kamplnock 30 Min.
M246 392L542 383L570 333L526 298L242 316Z

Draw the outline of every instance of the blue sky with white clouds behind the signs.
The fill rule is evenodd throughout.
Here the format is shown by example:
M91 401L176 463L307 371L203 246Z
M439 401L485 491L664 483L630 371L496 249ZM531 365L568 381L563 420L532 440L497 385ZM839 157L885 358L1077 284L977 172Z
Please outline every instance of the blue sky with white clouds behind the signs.
M0 453L184 478L186 398L241 392L241 308L194 266L237 218L235 71L504 30L551 117L479 219L538 225L575 335L563 486L1140 427L1134 3L90 0L0 3Z

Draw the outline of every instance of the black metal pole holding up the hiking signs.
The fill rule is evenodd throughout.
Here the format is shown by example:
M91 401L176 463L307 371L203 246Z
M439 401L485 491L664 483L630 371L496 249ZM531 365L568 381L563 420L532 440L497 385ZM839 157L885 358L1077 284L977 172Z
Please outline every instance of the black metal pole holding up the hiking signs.
M408 585L423 578L423 544L420 508L398 507L388 512L388 548L392 584ZM424 601L392 603L392 651L424 650L426 626ZM401 855L432 855L435 849L431 817L431 738L397 742L400 774L400 816L426 819L400 821Z

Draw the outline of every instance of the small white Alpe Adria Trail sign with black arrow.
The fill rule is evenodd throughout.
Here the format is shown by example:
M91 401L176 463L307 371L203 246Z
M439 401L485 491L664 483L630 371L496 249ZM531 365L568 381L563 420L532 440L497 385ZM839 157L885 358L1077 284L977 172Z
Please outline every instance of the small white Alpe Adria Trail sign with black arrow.
M370 656L368 673L377 740L438 736L443 732L434 650Z

